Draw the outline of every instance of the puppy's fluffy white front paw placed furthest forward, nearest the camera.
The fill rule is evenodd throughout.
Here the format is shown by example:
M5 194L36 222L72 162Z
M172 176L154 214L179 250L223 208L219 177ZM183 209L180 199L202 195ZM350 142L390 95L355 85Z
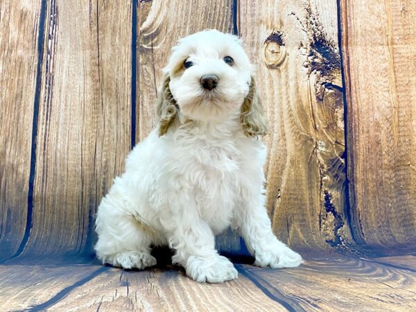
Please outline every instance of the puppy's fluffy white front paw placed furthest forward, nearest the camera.
M195 281L203 283L222 283L236 279L237 270L225 257L216 254L212 257L191 256L187 260L187 275Z

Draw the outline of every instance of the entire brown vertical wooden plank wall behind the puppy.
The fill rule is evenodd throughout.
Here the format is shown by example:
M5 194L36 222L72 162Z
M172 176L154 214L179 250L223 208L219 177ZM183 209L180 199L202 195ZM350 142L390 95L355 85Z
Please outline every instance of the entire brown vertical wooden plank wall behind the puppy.
M412 0L15 2L0 0L0 259L92 251L96 207L155 125L169 49L205 28L241 35L257 65L277 236L415 250Z

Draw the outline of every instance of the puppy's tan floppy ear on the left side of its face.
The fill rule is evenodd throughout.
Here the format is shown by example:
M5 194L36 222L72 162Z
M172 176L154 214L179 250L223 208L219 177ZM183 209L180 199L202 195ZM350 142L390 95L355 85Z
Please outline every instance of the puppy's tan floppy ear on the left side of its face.
M166 74L156 101L157 117L159 118L159 137L168 132L168 128L175 120L178 110L177 103L173 98L171 89L169 89L170 81L171 78Z

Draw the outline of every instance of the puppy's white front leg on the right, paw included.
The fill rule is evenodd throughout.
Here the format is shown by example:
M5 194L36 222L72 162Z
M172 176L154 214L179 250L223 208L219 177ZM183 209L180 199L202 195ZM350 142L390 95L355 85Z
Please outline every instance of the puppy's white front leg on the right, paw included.
M236 207L234 218L236 227L255 257L254 266L271 268L293 268L303 262L297 252L279 241L272 232L263 189L243 189L240 205Z

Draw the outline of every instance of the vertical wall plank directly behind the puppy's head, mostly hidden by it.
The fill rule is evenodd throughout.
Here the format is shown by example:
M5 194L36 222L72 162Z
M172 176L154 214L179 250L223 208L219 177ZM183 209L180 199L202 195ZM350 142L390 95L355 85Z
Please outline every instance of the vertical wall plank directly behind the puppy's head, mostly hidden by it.
M154 103L171 48L180 38L207 28L232 33L232 1L141 1L137 14L136 141L139 141L156 125ZM239 237L231 231L220 235L217 242L220 249L241 250Z

